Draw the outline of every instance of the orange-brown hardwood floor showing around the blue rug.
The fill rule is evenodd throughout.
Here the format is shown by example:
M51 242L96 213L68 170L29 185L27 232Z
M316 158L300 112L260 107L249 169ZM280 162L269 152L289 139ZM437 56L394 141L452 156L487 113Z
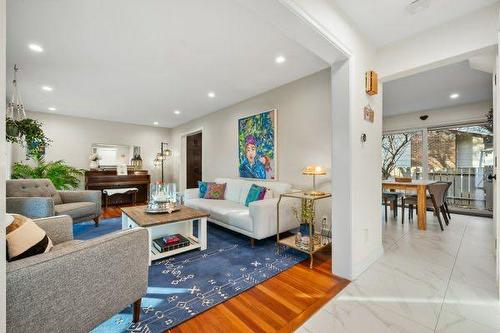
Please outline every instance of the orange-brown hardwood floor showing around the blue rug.
M101 218L120 215L119 208L108 207ZM349 284L331 268L326 249L315 255L312 269L305 260L167 332L293 332Z

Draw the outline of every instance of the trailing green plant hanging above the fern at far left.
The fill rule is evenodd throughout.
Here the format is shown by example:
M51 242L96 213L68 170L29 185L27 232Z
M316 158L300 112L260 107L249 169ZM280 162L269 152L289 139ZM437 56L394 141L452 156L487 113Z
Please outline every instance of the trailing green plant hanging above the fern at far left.
M45 147L52 142L45 136L42 123L38 120L14 120L10 117L6 119L6 140L26 147L28 158L40 158L45 154Z

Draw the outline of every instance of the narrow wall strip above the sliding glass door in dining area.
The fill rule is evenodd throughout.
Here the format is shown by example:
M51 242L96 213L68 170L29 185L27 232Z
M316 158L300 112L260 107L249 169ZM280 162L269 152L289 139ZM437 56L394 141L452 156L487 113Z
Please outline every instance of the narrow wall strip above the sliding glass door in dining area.
M459 125L486 120L492 101L462 104L448 108L399 114L384 117L384 131L409 130L423 127ZM420 116L428 115L425 121Z

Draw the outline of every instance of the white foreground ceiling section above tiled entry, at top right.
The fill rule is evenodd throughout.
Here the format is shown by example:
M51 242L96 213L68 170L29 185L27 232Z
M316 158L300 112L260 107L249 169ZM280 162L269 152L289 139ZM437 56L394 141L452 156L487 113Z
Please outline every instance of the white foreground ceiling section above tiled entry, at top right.
M411 14L413 0L333 0L375 44L384 46L451 21L498 0L420 0L428 8Z

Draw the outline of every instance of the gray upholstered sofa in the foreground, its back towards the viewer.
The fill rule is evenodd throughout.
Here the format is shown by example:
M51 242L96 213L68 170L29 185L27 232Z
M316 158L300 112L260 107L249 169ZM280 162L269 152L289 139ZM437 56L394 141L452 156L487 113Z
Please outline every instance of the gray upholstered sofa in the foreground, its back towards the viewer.
M73 240L69 216L35 220L55 244L7 263L7 332L89 332L140 300L148 285L146 229Z

